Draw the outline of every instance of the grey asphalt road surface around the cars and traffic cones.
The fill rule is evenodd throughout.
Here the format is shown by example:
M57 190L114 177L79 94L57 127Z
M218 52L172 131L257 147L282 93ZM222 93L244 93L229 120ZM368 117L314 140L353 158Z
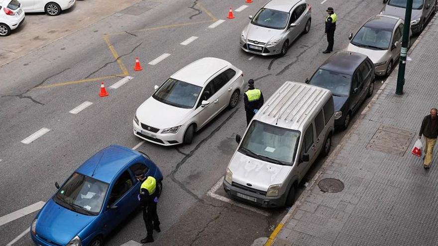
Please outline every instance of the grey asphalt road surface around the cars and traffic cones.
M242 96L236 108L223 111L189 146L143 142L132 134L132 117L155 84L203 57L229 61L243 71L245 82L254 79L268 98L285 81L311 77L329 57L322 54L328 6L338 15L334 50L344 49L348 34L382 8L375 0L309 2L310 32L284 57L253 56L238 46L248 15L265 0L144 0L0 67L0 217L47 201L56 191L55 181L63 182L90 156L119 144L147 153L165 176L158 206L162 232L154 234L153 245L251 245L269 237L285 208L260 209L229 200L222 187L215 186L237 147L235 135L246 127ZM246 8L234 11L234 19L226 18L228 7L244 4ZM219 19L225 21L218 24ZM214 23L218 25L209 28ZM198 38L180 44L192 36ZM170 56L148 65L164 53ZM135 57L143 71L133 71ZM128 75L133 77L129 82L108 88ZM375 89L384 80L380 78ZM98 95L102 81L109 91L104 98ZM69 113L85 101L93 104ZM21 142L41 128L50 131L32 143ZM333 147L342 135L336 133ZM314 165L309 179L322 163ZM0 245L28 229L35 214L1 225ZM23 235L14 245L32 244L29 234ZM106 244L139 242L145 236L141 213L134 213Z

